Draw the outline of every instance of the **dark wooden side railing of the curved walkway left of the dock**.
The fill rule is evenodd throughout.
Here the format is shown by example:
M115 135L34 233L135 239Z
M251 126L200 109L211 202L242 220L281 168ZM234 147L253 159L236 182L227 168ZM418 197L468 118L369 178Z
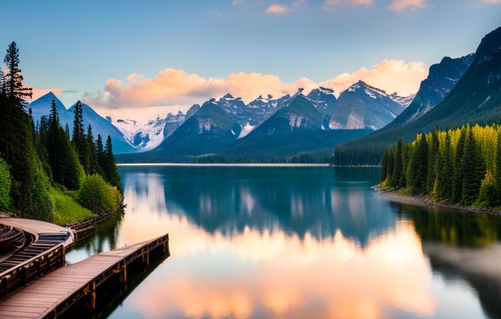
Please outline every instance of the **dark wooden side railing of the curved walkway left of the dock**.
M22 251L19 255L21 254ZM64 264L65 249L61 243L0 273L0 301Z

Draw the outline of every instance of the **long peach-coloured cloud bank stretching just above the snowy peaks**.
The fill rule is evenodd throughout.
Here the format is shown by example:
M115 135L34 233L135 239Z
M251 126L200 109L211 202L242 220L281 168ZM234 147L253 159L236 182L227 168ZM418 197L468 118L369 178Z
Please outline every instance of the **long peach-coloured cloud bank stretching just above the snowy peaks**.
M188 74L184 70L167 68L154 78L148 79L138 78L134 73L127 77L129 84L111 78L102 91L85 93L83 101L101 110L103 115L117 114L116 110L122 113L126 110L132 113L134 110L134 113L151 117L162 113L162 108L165 113L167 110L175 112L174 109L185 111L195 103L201 104L210 98L221 98L226 93L240 97L248 103L259 95L271 94L280 98L285 94L294 94L299 88L304 88L304 93L307 94L322 85L334 89L339 96L339 93L358 80L364 80L389 93L396 91L400 95L409 95L417 92L421 80L427 75L428 71L421 62L405 63L396 60L384 60L371 69L360 68L354 73L343 73L321 83L315 83L308 78L284 83L277 75L243 72L232 73L226 79L204 78L196 73Z

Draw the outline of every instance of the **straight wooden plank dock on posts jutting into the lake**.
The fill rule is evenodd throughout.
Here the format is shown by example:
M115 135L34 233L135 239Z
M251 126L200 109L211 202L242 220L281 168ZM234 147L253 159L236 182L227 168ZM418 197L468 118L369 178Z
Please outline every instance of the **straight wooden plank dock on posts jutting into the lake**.
M0 318L56 318L84 296L95 307L96 288L114 274L127 283L127 265L149 265L152 252L169 253L169 234L126 246L49 273L0 303Z

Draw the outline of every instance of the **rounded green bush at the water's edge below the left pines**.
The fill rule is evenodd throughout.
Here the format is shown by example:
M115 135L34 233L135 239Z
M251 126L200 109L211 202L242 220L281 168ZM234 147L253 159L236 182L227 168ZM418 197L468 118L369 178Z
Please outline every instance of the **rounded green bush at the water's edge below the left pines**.
M78 200L93 213L102 214L118 209L122 195L115 187L106 184L100 175L94 174L88 176L78 190Z

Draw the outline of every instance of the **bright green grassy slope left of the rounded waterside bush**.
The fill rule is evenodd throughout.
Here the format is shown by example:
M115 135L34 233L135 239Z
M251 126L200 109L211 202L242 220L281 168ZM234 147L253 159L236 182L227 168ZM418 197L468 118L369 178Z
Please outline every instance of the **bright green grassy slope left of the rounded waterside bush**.
M71 221L83 221L93 215L92 211L78 204L75 191L63 191L52 187L51 197L55 204L54 224L64 225Z

